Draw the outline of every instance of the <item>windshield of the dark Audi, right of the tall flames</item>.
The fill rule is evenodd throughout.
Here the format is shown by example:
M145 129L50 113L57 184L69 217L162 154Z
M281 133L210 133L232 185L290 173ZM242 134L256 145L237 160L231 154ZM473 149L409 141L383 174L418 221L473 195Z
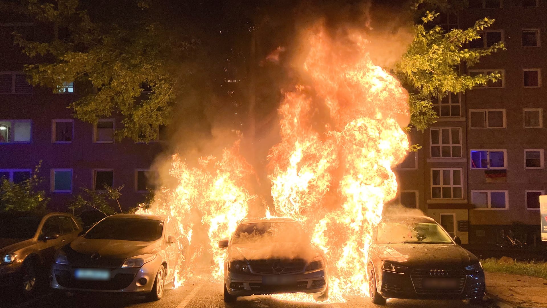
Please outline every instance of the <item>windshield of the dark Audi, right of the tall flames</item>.
M380 223L376 242L449 244L452 239L438 224L398 221Z

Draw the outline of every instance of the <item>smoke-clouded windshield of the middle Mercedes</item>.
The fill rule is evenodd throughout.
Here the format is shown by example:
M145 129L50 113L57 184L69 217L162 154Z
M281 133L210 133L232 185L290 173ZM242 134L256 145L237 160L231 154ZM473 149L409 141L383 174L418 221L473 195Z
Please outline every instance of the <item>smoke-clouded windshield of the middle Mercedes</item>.
M232 239L234 244L306 241L306 234L298 223L267 222L241 224Z

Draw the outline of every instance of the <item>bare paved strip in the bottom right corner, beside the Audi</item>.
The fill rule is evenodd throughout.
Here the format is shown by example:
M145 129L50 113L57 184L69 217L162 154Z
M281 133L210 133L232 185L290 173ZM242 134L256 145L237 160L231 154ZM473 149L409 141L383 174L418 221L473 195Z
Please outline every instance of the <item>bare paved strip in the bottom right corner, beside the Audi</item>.
M547 308L547 280L536 277L485 272L486 295L498 306Z

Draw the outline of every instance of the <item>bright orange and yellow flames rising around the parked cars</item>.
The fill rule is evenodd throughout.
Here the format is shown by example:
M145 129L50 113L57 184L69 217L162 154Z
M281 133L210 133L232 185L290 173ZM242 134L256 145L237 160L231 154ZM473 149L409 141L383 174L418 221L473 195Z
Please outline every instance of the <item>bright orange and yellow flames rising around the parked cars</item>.
M329 301L344 301L344 295L368 295L372 230L383 204L397 193L391 167L409 149L401 128L409 122L408 94L373 64L370 42L358 31L333 36L317 25L304 38L304 81L284 95L282 141L270 151L274 215L294 218L312 232L328 260ZM256 197L246 188L251 174L238 142L219 161L201 158L200 167L174 156L171 175L178 186L162 190L152 208L139 213L170 214L189 241L201 220L214 259L212 277L220 278L223 252L217 243L231 236ZM188 275L181 270L178 280ZM276 297L313 301L302 294Z

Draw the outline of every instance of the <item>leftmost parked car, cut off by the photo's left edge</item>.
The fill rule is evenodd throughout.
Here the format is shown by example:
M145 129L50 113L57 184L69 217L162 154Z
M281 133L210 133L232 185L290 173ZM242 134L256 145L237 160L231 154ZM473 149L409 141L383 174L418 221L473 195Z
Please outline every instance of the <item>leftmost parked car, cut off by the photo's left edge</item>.
M55 250L81 231L66 213L0 213L0 288L15 287L24 295L35 292L49 273Z

